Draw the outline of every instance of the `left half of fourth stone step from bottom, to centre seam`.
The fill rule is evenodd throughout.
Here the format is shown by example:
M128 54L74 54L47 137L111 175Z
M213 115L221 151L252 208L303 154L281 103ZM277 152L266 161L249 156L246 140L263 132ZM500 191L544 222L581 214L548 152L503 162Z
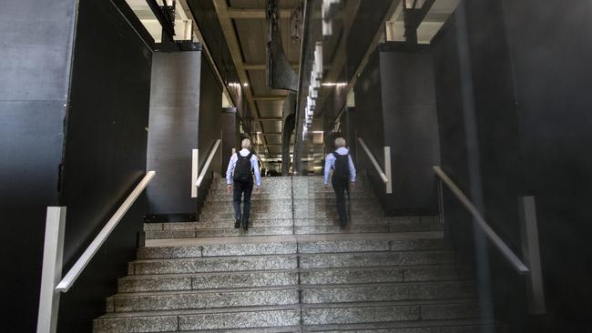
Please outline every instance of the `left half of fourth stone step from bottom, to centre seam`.
M179 259L149 259L132 261L128 265L128 274L160 275L294 269L296 267L297 257L294 255L191 257Z

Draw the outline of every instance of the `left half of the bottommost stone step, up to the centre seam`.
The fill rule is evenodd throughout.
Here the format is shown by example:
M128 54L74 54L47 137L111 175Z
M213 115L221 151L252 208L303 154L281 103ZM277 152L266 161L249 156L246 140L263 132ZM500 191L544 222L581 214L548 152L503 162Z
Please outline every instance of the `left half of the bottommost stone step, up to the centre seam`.
M109 313L94 320L93 332L203 332L230 328L255 328L252 332L294 332L294 328L300 325L300 313L298 306Z

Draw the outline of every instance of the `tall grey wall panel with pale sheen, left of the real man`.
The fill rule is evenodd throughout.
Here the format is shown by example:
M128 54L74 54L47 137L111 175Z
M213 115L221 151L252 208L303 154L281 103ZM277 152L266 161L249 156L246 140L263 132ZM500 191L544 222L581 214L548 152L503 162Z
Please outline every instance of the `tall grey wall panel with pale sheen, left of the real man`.
M148 186L148 214L196 212L191 156L199 148L201 67L200 51L154 54L147 167L158 177Z

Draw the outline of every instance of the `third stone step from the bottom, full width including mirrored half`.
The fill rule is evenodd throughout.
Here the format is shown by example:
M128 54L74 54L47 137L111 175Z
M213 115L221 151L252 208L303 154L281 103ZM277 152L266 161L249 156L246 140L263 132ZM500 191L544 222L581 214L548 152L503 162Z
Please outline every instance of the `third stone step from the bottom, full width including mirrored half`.
M409 267L362 267L288 269L247 272L129 276L118 280L118 293L180 291L216 288L255 288L296 285L340 285L469 281L468 267L432 265Z

